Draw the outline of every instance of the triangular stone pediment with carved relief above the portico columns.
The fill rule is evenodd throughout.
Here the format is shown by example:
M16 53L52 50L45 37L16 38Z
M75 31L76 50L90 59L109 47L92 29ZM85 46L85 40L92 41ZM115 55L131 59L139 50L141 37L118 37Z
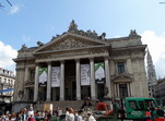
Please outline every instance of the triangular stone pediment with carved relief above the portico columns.
M35 52L66 51L74 49L85 49L95 47L110 46L105 40L93 39L90 37L67 33L60 37L52 38L51 41L39 47Z

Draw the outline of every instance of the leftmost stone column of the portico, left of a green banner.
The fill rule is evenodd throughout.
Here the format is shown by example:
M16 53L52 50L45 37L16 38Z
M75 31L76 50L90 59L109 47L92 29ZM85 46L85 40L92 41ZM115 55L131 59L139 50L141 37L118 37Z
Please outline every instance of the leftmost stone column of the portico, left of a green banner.
M39 65L36 64L35 85L34 85L34 101L37 101L37 99L38 99L38 81L39 81Z

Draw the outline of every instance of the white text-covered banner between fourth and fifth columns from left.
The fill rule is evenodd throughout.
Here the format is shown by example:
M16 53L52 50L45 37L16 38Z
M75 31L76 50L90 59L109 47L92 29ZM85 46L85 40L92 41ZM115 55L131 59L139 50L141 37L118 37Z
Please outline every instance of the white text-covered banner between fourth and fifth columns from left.
M90 85L90 64L81 64L81 85Z

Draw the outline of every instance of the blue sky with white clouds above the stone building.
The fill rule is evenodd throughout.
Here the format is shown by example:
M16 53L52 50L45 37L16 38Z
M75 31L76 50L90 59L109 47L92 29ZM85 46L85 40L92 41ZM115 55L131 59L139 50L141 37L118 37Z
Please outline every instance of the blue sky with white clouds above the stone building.
M79 29L126 37L130 29L142 36L151 52L157 78L165 76L165 0L0 0L0 66L15 71L22 45L37 46L68 31Z

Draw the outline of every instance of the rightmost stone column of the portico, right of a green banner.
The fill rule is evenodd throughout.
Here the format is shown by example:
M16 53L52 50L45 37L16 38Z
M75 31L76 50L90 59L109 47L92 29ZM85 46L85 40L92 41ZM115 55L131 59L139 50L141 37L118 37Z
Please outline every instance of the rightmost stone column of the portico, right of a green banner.
M107 94L107 96L108 96L108 97L111 97L109 60L108 60L108 58L106 57L104 61L105 61L105 80L106 80L106 87L107 87L108 90L109 90L108 94Z

